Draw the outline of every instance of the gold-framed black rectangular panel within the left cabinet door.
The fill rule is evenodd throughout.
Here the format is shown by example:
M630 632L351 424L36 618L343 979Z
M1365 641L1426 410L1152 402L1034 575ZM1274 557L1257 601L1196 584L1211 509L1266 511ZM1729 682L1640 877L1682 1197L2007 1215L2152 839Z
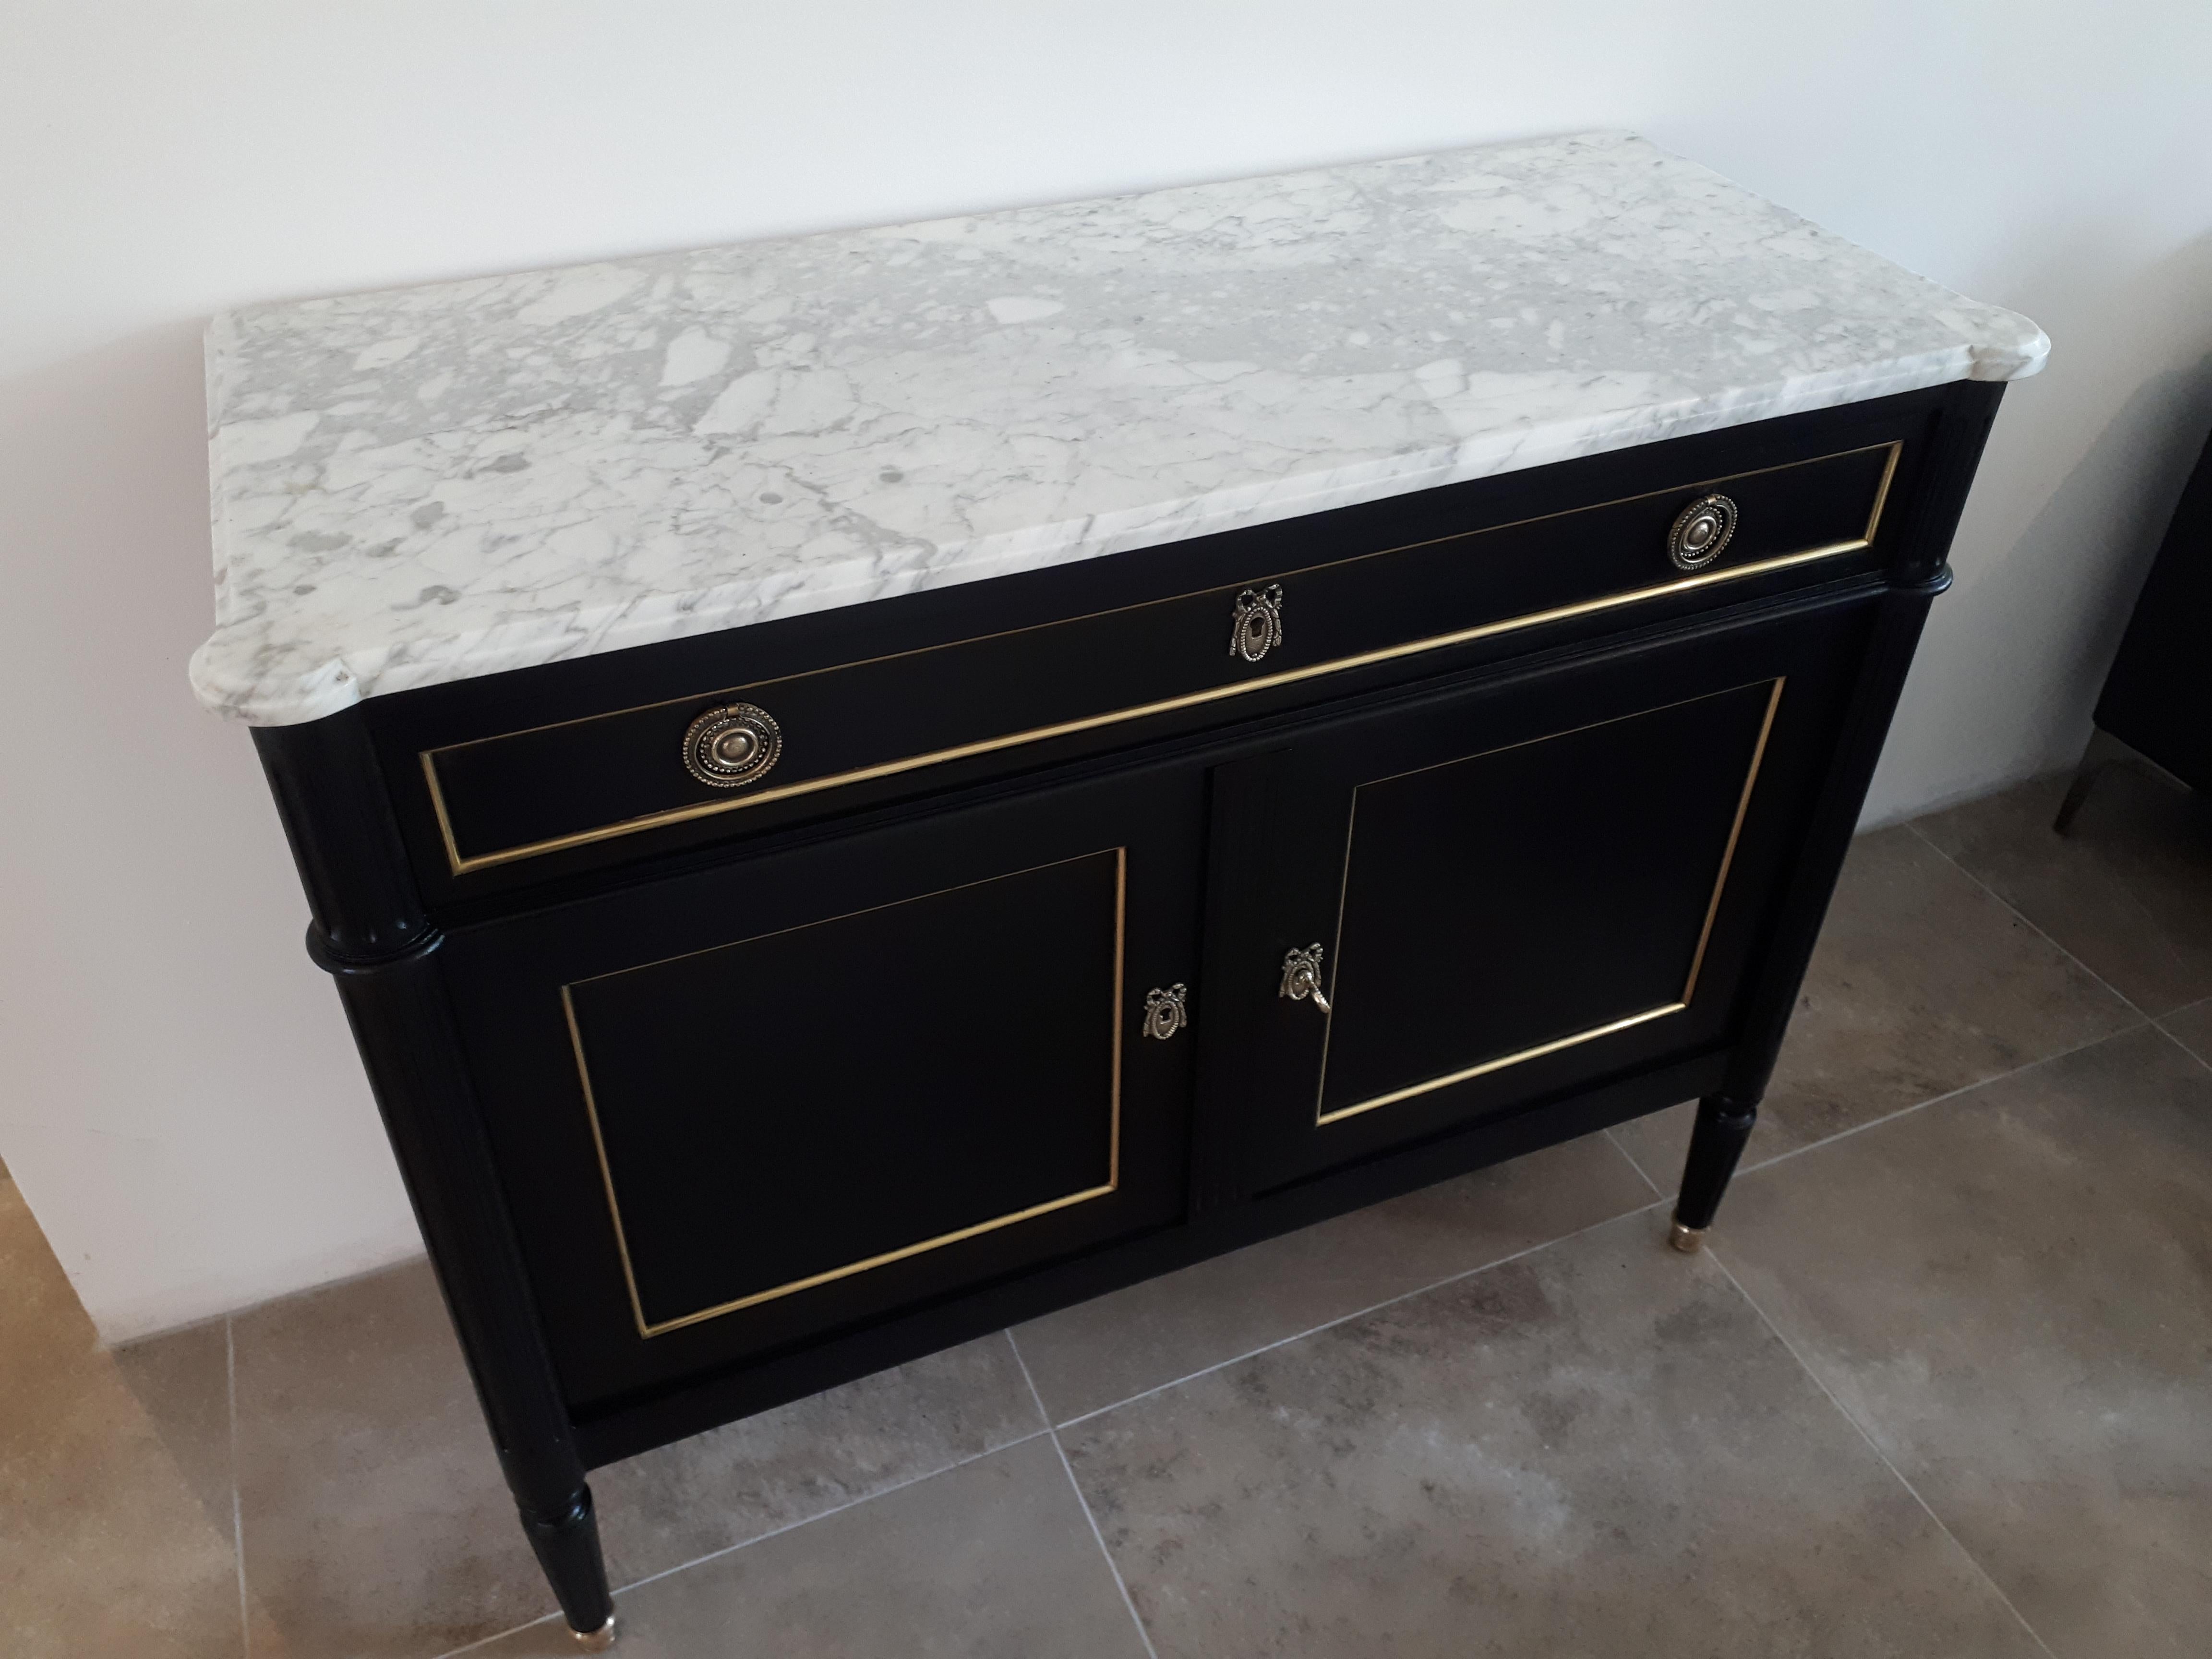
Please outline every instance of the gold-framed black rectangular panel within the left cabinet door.
M639 1329L1110 1194L1124 860L564 984Z

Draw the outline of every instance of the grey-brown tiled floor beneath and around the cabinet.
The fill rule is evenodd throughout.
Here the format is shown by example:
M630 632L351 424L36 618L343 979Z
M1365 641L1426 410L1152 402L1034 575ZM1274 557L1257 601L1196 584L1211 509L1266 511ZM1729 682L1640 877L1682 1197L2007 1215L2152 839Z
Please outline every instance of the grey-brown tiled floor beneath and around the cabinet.
M593 1478L633 1659L2201 1655L2212 812L1865 836L1683 1108ZM422 1267L104 1354L0 1179L0 1650L566 1652Z

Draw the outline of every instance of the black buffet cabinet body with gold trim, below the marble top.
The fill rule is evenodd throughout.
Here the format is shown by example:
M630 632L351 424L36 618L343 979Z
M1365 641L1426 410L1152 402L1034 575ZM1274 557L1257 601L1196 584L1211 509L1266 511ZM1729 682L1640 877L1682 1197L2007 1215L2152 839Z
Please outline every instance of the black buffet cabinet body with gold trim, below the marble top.
M568 1624L586 1469L1701 1099L1997 385L259 728Z

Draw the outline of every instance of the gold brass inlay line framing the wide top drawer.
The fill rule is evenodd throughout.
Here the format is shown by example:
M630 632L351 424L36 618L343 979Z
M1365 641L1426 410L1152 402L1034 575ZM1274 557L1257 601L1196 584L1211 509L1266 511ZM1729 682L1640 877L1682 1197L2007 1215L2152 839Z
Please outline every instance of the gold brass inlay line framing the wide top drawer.
M1683 489L1701 489L1703 484L1721 484L1721 482L1730 482L1730 480L1736 480L1736 478L1756 478L1761 473L1787 471L1792 467L1812 467L1812 465L1818 465L1823 460L1843 460L1847 456L1860 456L1867 449L1887 449L1889 451L1889 460L1885 462L1885 467L1882 467L1882 480L1880 480L1880 484L1874 491L1874 507L1867 513L1867 529L1865 529L1865 533L1860 533L1858 538L1854 538L1849 542L1827 542L1823 546L1805 549L1801 553L1783 553L1783 555L1776 555L1772 560L1754 560L1752 564L1736 564L1736 566L1717 568L1717 571L1701 571L1699 575L1681 577L1677 582L1659 582L1659 584L1648 586L1648 588L1624 588L1619 593L1606 593L1606 595L1599 595L1595 599L1579 599L1575 604L1562 604L1562 606L1553 606L1548 611L1528 611L1528 613L1517 615L1517 617L1504 617L1500 622L1484 622L1484 624L1478 624L1473 628L1455 628L1453 633L1429 635L1425 639L1409 639L1409 641L1402 641L1402 644L1396 644L1396 646L1383 646L1378 650L1363 650L1363 653L1356 653L1352 657L1334 657L1334 659L1323 661L1323 664L1310 664L1307 668L1285 668L1285 670L1274 672L1274 675L1254 675L1252 679L1243 679L1243 681L1237 681L1237 684L1230 684L1230 686L1210 686L1206 690L1186 692L1181 697L1164 697L1164 699L1157 699L1157 701L1150 701L1150 703L1135 703L1135 706L1128 706L1128 708L1115 708L1115 710L1108 710L1104 714L1086 714L1082 719L1060 721L1055 726L1033 726L1029 730L1009 732L1004 737L989 737L989 739L978 739L973 743L958 743L953 748L929 750L927 754L902 754L896 761L880 761L876 765L860 765L860 768L854 768L849 772L836 772L832 776L821 776L821 779L801 779L796 783L785 783L785 785L781 785L776 790L757 790L757 792L748 792L748 794L741 794L741 796L734 796L734 799L728 799L728 801L699 801L699 803L692 803L688 807L668 807L666 812L646 812L646 814L641 814L637 818L619 818L615 823L595 825L593 830L575 830L575 832L564 834L564 836L549 836L544 841L529 841L529 843L522 843L520 847L500 847L498 852L484 852L484 854L462 856L462 852L460 852L460 847L458 847L458 843L453 838L453 823L451 823L451 818L447 814L445 792L438 787L438 757L440 754L445 754L449 750L476 748L478 743L500 743L500 741L504 741L509 737L522 737L526 732L542 732L542 730L551 730L553 726L586 726L591 721L617 719L622 714L637 714L637 712L648 710L648 708L666 708L668 703L692 703L692 701L699 701L699 697L666 697L666 699L661 699L657 703L639 703L635 708L622 708L622 710L613 710L608 714L588 714L588 717L577 719L577 721L551 721L549 726L518 728L513 732L498 732L495 737L476 737L476 739L469 739L467 743L447 743L445 748L422 750L420 752L422 774L429 779L431 812L438 818L438 834L445 841L447 863L451 865L451 872L456 876L467 876L467 874L473 874L478 869L491 869L493 865L509 865L509 863L515 863L520 858L538 858L538 856L553 854L553 852L568 852L573 847L588 847L588 845L593 845L597 841L613 841L617 836L635 836L635 834L639 834L644 830L664 830L664 827L668 827L672 823L690 823L692 818L710 818L710 816L717 816L721 812L741 812L743 807L759 807L759 805L768 805L770 801L790 801L792 796L816 794L818 790L838 790L838 787L843 787L847 783L867 783L872 779L885 779L885 776L896 776L900 772L914 772L914 770L920 770L925 765L945 765L947 761L964 761L964 759L971 759L975 754L991 754L995 750L1015 748L1015 745L1022 745L1022 743L1044 743L1044 741L1051 741L1055 737L1073 737L1077 732L1091 732L1091 730L1097 730L1102 726L1119 726L1121 721L1150 719L1152 714L1170 714L1170 712L1183 710L1183 708L1199 708L1203 703L1214 703L1214 701L1221 701L1225 697L1245 697L1250 692L1274 690L1276 686L1292 686L1292 684L1303 681L1303 679L1316 679L1318 675L1340 675L1340 672L1347 672L1347 670L1354 670L1354 668L1369 668L1374 664L1396 661L1398 657L1413 657L1413 655L1420 655L1420 653L1427 653L1427 650L1447 650L1451 646L1473 644L1475 639L1489 639L1489 637L1502 635L1502 633L1517 633L1522 628L1540 628L1540 626L1544 626L1548 622L1568 622L1573 617L1595 615L1599 611L1617 611L1617 608L1628 606L1628 604L1641 604L1644 599L1663 599L1663 597L1668 597L1672 593L1690 593L1694 588L1714 586L1719 582L1739 582L1739 580L1752 577L1752 575L1767 575L1770 571L1787 571L1787 568L1792 568L1796 564L1812 564L1814 560L1829 560L1829 557L1840 557L1845 553L1860 553L1860 551L1865 551L1867 546L1874 544L1874 533L1880 526L1880 518L1882 518L1882 504L1889 500L1889 480L1896 476L1898 456L1902 453L1902 447L1905 447L1902 440L1896 440L1896 442L1889 442L1889 445L1865 445L1863 449L1840 449L1834 456L1816 456L1814 460L1792 460L1792 462L1783 462L1778 467L1759 467L1759 469L1747 471L1747 473L1728 473L1725 478L1708 478L1708 480L1701 480L1697 484L1672 484L1670 489L1652 489L1652 491L1644 491L1641 495L1621 495L1621 498L1610 500L1610 502L1590 502L1588 507L1568 507L1568 509L1562 509L1557 513L1537 513L1535 518L1513 520L1511 524L1489 524L1489 526L1478 529L1478 531L1455 531L1451 535L1436 535L1436 538L1429 538L1427 542L1405 542L1402 546L1389 546L1389 549L1380 549L1376 553L1358 553L1358 555L1354 555L1349 560L1334 560L1332 564L1356 564L1360 560L1376 560L1376 557L1385 557L1389 553L1407 553L1407 551L1411 551L1416 546L1433 546L1436 542L1458 542L1458 540L1473 540L1478 535L1495 535L1498 531L1520 529L1522 524L1540 524L1540 522L1544 522L1548 518L1568 518L1573 513L1590 513L1590 511L1597 511L1601 507L1619 507L1621 502L1644 500L1646 495L1672 495L1672 493L1679 493ZM1305 568L1301 568L1301 571L1296 571L1292 575L1303 575L1305 571L1332 568L1332 564L1305 566ZM1230 586L1234 588L1237 584L1232 582ZM781 679L754 681L754 684L748 684L748 686L728 688L728 695L734 695L739 690L759 690L763 686L779 686L779 684L785 684L790 679L810 679L814 675L832 675L832 672L838 672L838 670L845 670L845 668L860 668L860 666L872 664L872 661L887 661L889 657L918 657L918 655L929 653L929 650L956 650L958 646L971 646L971 644L980 644L984 639L1000 639L1000 637L1004 637L1009 633L1035 633L1035 628L1062 628L1062 626L1066 626L1071 622L1088 622L1091 617L1115 615L1117 611L1144 611L1144 608L1155 606L1155 604L1177 604L1181 599L1192 599L1192 597L1199 597L1199 595L1177 593L1177 595L1170 595L1166 599L1146 599L1144 604L1117 606L1115 611L1097 611L1097 613L1091 613L1091 615L1084 615L1084 617L1055 617L1053 622L1040 622L1033 628L1006 628L1006 630L995 633L995 635L975 635L973 639L956 639L956 641L949 641L949 644L942 644L942 646L920 646L916 650L887 653L885 657L860 657L856 661L832 664L827 668L807 668L807 670L796 672L796 675L783 675ZM726 692L717 690L717 692L701 692L701 695L721 697Z

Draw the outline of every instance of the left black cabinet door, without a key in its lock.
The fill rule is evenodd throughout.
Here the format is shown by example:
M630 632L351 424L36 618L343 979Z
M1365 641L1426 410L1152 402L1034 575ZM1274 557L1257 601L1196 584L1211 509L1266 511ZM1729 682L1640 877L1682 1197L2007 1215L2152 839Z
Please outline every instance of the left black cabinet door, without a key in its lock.
M1175 1221L1192 1042L1144 1031L1197 978L1201 785L1137 772L456 933L573 1402Z

